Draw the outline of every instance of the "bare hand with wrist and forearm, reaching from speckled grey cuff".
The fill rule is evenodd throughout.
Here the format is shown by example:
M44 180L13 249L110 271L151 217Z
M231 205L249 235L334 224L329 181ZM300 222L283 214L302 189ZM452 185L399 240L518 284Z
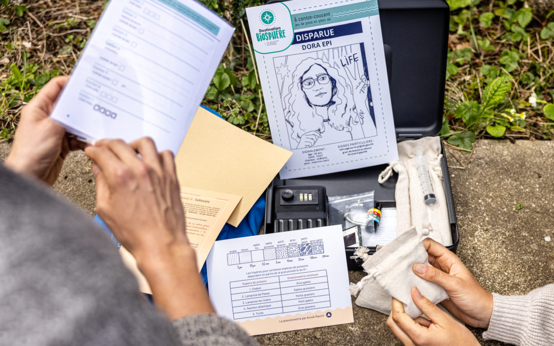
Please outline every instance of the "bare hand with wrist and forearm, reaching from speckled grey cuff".
M135 256L154 302L170 318L214 312L185 233L173 154L158 153L150 138L102 140L85 154L94 162L96 212Z

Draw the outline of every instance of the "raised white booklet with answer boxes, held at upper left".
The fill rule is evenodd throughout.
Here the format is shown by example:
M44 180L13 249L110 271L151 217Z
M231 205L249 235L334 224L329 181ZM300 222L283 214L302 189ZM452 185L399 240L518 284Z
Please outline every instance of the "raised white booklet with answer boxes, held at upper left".
M52 117L94 141L177 153L234 28L193 0L109 2Z

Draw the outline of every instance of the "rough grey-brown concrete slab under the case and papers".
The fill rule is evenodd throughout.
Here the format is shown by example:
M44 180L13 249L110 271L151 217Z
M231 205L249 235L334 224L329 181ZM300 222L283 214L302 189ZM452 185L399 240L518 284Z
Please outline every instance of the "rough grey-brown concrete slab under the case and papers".
M8 143L0 143L6 158ZM471 154L447 148L460 242L458 255L489 291L525 294L554 282L554 142L481 140ZM71 153L54 188L94 214L94 177ZM516 210L517 204L522 206ZM547 241L550 237L550 241ZM363 272L349 272L357 282ZM259 335L263 345L396 345L387 316L354 307L353 324ZM485 345L483 329L471 329Z

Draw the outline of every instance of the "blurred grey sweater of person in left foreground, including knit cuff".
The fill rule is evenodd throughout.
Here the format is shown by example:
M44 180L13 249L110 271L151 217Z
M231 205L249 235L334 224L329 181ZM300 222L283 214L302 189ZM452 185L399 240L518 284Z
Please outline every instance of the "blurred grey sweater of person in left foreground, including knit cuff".
M168 321L104 231L0 164L0 345L179 343L256 344L215 315Z

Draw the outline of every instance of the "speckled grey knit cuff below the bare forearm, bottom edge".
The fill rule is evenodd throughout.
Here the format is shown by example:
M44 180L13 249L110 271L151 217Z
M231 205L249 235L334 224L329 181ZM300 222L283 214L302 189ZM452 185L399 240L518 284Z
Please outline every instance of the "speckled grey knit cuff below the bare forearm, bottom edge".
M236 323L215 314L198 314L172 322L183 346L258 345Z

